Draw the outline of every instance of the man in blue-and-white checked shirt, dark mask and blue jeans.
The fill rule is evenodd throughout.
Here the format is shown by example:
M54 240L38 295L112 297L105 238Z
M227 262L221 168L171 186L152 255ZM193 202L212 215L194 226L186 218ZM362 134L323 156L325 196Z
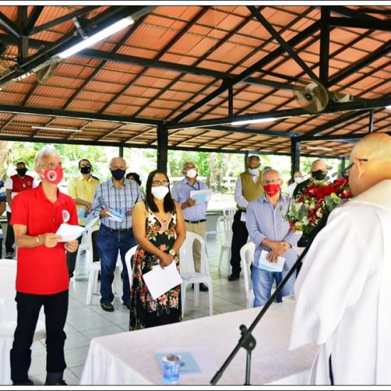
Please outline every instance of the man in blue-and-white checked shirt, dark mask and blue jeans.
M91 213L100 217L97 248L100 254L100 306L104 311L114 311L112 282L118 252L123 265L122 301L130 309L129 274L125 254L136 245L132 230L132 210L142 200L141 190L135 181L124 178L127 162L122 157L111 159L109 168L112 178L100 183L91 204ZM130 271L129 271L130 272Z

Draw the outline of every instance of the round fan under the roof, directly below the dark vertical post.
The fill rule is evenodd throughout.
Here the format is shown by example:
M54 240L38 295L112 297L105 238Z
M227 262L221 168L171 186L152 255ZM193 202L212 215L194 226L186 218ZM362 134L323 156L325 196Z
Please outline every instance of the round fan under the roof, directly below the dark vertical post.
M328 92L317 80L298 80L294 85L294 96L307 112L321 112L328 104Z

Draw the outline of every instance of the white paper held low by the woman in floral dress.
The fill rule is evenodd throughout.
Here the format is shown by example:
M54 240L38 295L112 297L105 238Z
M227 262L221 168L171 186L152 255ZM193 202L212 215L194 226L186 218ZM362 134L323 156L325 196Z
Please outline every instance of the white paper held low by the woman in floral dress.
M171 262L171 264L164 267L164 269L162 269L159 264L156 264L150 272L144 274L143 278L149 293L154 300L162 294L165 294L166 291L169 291L174 286L182 283L175 262Z

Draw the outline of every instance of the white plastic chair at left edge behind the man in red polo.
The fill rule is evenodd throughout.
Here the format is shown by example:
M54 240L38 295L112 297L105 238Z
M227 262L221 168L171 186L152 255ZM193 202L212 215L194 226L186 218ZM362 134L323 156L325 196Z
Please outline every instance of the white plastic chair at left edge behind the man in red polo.
M14 341L18 312L16 310L16 266L15 259L0 259L0 384L10 385L11 366L9 351ZM45 321L40 318L34 339L45 338Z

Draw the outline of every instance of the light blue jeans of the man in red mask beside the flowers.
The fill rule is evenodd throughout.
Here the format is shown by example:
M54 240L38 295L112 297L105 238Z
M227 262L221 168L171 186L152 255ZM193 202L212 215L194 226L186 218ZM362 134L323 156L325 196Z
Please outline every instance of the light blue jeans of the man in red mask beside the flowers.
M267 300L269 300L270 296L272 296L273 280L275 280L276 286L278 286L288 272L289 270L283 270L282 272L267 272L266 270L259 269L258 267L252 267L252 289L255 296L255 307L264 306L264 304L266 304ZM296 272L291 275L282 288L282 291L277 296L277 303L282 301L282 296L288 296L293 293L295 279Z

